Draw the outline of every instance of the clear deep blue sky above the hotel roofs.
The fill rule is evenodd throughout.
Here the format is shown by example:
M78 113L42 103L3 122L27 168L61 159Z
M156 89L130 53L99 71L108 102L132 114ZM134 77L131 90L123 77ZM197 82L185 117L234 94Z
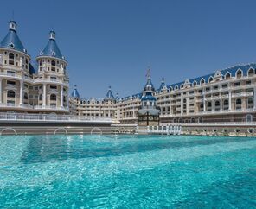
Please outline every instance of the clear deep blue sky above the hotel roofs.
M10 19L35 57L54 29L68 61L70 91L121 98L152 82L172 84L256 60L254 0L90 0L1 2L0 38Z

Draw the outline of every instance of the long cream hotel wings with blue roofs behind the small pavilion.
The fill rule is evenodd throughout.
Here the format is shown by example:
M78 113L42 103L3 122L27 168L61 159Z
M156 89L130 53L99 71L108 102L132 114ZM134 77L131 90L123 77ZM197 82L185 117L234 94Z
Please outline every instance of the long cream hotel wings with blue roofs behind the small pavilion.
M160 123L226 123L256 119L256 64L232 66L195 79L165 85L153 96L160 109ZM112 117L114 123L138 123L143 93L114 98L82 99L75 88L70 98L72 113L86 117Z

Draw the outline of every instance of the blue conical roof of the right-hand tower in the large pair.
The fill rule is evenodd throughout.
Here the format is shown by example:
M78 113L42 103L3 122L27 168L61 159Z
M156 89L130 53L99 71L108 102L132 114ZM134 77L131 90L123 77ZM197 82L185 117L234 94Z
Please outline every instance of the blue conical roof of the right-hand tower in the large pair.
M47 46L42 50L39 56L49 56L64 60L61 50L55 41L55 32L50 31L50 38Z

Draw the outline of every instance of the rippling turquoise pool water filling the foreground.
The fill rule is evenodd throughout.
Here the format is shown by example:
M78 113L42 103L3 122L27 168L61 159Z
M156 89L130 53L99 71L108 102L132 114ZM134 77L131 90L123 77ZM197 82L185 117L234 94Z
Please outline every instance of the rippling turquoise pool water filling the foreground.
M256 139L1 136L0 207L255 208Z

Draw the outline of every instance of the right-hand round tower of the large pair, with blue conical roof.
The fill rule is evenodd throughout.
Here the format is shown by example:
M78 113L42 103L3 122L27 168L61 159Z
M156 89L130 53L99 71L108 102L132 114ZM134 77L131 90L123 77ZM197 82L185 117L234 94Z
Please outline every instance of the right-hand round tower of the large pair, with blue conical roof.
M39 106L45 111L68 111L67 60L57 45L55 32L49 32L47 46L37 56Z

